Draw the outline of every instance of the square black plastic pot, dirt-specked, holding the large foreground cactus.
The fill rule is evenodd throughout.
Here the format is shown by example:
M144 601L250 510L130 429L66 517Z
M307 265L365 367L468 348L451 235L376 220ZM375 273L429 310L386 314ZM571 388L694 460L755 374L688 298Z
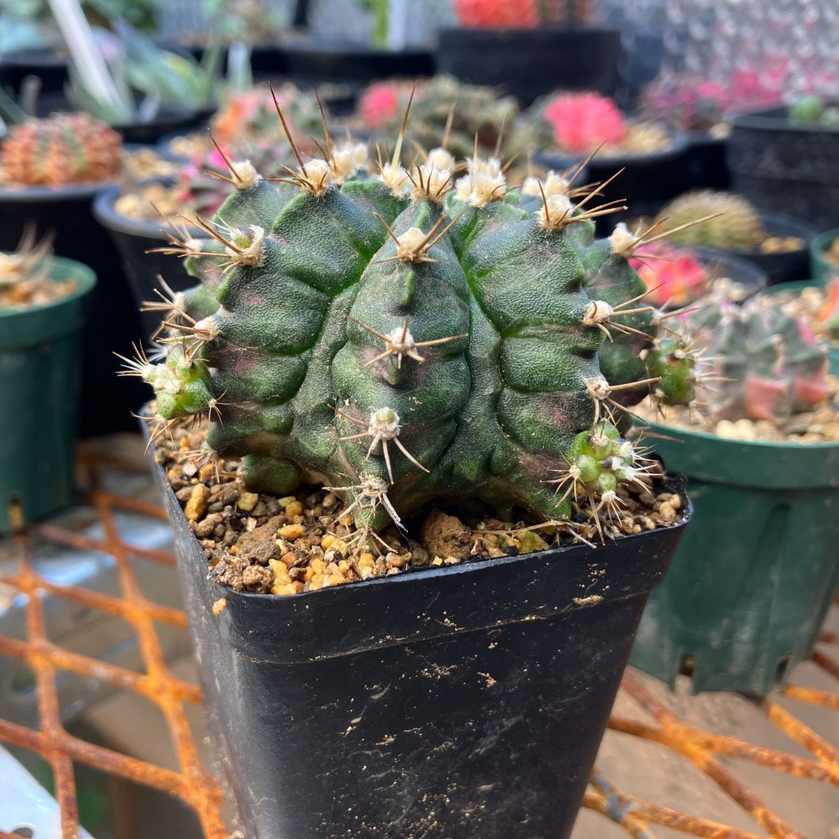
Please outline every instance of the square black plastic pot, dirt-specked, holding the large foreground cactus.
M679 524L594 549L273 597L208 581L155 474L219 774L249 839L569 836L684 495Z

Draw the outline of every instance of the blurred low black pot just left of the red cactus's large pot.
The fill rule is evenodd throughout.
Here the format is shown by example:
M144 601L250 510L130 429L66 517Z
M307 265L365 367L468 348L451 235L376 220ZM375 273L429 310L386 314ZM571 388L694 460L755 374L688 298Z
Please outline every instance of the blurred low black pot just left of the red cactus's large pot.
M324 83L367 84L394 76L414 79L431 76L434 60L429 50L380 50L350 41L307 38L283 44L292 81L299 86Z

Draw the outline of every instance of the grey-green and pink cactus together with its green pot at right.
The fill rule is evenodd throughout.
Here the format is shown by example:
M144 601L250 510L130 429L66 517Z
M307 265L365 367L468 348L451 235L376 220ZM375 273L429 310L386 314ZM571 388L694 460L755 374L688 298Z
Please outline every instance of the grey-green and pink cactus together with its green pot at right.
M710 365L705 421L646 414L657 449L688 477L701 525L633 650L634 664L670 684L684 673L694 690L765 696L810 656L836 591L839 383L816 332L829 335L830 302L790 286L742 306L701 302L690 322Z

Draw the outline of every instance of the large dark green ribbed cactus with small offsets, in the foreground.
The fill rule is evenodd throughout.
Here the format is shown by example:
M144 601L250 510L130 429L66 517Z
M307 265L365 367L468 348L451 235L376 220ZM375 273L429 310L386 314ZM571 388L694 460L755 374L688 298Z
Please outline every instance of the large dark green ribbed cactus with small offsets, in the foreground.
M375 174L365 147L329 140L276 185L231 163L207 241L171 248L201 284L150 307L164 360L129 363L154 386L158 432L208 414L208 446L241 457L249 488L320 482L360 527L439 497L539 520L567 519L572 498L612 512L645 468L621 406L690 401L700 375L639 302L629 258L662 234L595 242L608 182L551 173L519 194L497 159L457 178L433 149L404 169L402 140Z

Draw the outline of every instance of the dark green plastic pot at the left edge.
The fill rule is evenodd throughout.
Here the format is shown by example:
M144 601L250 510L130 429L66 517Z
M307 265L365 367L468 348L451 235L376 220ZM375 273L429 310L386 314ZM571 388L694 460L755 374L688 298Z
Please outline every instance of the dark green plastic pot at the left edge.
M81 388L81 332L96 276L55 258L51 279L74 280L60 300L0 310L0 533L8 506L27 521L70 503Z

